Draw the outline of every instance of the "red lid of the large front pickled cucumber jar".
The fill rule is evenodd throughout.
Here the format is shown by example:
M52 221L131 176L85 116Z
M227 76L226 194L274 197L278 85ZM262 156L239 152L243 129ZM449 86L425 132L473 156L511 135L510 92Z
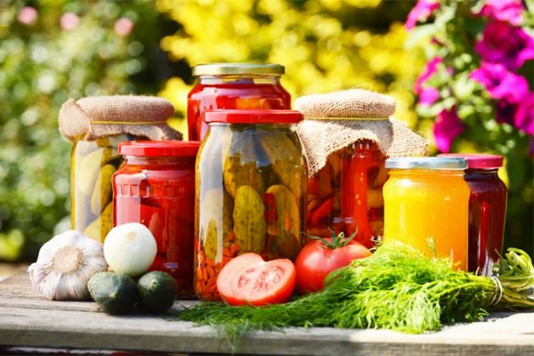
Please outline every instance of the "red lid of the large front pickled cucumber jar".
M206 123L229 124L297 124L303 114L296 110L217 109L204 112Z

